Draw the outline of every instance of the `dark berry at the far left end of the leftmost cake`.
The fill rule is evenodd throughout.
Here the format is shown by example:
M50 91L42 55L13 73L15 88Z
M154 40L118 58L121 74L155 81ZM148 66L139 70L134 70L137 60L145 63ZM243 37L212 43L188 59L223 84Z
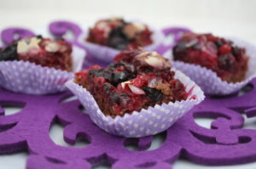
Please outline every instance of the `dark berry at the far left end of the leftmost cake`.
M0 61L18 59L17 43L12 43L8 47L0 50Z

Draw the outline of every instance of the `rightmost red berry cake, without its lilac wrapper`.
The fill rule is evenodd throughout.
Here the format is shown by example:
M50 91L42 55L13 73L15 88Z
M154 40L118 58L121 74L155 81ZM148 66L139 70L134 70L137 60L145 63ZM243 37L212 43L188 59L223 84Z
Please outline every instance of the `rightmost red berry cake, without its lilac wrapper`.
M226 82L241 82L247 72L245 48L212 34L185 33L172 50L173 59L201 65Z

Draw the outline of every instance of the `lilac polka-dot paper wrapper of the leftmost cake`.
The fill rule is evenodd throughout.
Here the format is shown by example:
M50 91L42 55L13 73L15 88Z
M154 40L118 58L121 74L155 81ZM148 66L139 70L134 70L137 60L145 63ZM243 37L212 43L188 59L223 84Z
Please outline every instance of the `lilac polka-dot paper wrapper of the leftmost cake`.
M73 71L81 69L85 52L73 47ZM18 93L49 94L66 89L65 82L73 72L43 67L34 63L14 60L0 61L0 86Z

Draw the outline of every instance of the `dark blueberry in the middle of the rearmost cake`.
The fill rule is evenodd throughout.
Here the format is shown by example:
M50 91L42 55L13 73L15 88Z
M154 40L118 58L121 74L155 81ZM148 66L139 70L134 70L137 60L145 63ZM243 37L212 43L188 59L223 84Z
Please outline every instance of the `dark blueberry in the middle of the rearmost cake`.
M123 33L123 27L113 29L109 34L108 43L112 48L124 50L130 43L129 38Z

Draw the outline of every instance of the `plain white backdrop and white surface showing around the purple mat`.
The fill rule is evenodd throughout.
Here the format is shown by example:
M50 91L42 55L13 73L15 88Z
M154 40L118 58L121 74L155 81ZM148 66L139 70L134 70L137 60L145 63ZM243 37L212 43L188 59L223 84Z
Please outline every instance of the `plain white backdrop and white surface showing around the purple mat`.
M8 26L38 29L53 20L92 25L97 19L108 16L139 19L158 28L183 25L197 32L240 37L256 45L255 0L0 0L0 31ZM210 121L201 120L199 123L209 126ZM50 134L55 143L63 144L61 127L54 127ZM0 155L0 169L21 169L25 168L25 163L26 153ZM256 163L207 167L177 161L174 168L252 169L256 168Z

